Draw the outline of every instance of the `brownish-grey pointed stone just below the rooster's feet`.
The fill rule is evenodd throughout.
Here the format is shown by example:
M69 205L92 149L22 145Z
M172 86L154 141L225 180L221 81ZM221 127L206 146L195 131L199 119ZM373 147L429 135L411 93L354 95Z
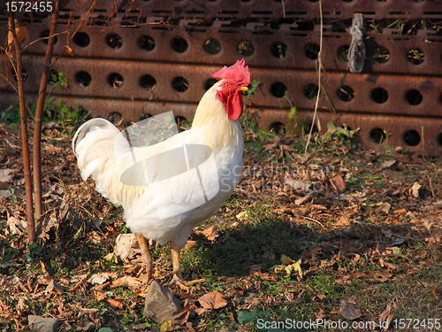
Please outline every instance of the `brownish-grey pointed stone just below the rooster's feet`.
M156 281L150 284L144 305L145 316L157 323L163 323L165 320L174 320L182 310L179 300L170 289Z

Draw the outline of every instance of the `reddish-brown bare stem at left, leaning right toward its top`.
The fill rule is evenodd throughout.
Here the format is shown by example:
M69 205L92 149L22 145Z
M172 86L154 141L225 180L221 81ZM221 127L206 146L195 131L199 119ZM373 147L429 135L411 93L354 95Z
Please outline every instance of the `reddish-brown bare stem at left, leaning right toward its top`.
M56 1L54 14L52 15L52 24L50 25L50 39L46 48L46 58L40 81L40 92L38 94L37 109L34 118L34 199L35 199L35 219L39 219L43 213L42 205L42 113L44 100L46 98L46 89L50 76L50 61L52 59L52 50L54 50L55 32L57 29L58 13L60 12L60 0Z

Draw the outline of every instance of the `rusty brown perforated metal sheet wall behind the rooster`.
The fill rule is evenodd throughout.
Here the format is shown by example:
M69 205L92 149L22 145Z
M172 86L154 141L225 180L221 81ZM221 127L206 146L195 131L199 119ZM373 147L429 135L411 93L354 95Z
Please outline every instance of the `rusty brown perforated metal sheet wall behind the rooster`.
M63 1L61 22L68 23L72 15L81 18L91 3L83 1L79 5L76 0ZM319 102L323 129L328 120L335 120L353 128L361 127L362 145L366 148L388 143L417 154L440 155L442 33L437 27L442 24L442 1L334 0L323 3L322 84L326 96ZM351 24L354 12L363 12L369 32L362 73L348 73L342 54L351 42L346 27ZM113 20L109 19L110 15ZM95 116L107 117L112 112L120 112L126 118L139 120L143 113L173 110L176 115L189 119L205 91L210 72L246 58L252 80L261 81L251 106L260 127L269 128L288 121L286 108L279 108L281 95L275 90L275 83L279 88L286 87L287 97L300 112L299 120L311 122L315 100L309 97L312 97L311 88L317 85L315 52L320 44L318 18L318 2L308 0L285 0L284 9L282 2L258 0L150 0L131 4L116 1L115 6L112 2L97 1L95 11L81 29L87 34L88 43L85 44L84 38L78 41L74 38L70 46L75 57L60 58L54 66L69 80L69 87L58 89L55 96L73 105L81 104ZM5 22L0 15L0 22L2 19ZM427 19L434 26L415 28L413 25L420 19ZM37 20L28 29L27 41L39 38L50 28L50 18L43 15ZM414 30L406 34L394 25L391 26L396 28L385 25L373 33L371 27L379 22L398 20L409 23L408 27ZM133 24L138 27L121 27ZM120 38L118 47L109 42L116 40L115 35ZM149 44L148 50L143 50L141 36L149 36L155 47ZM5 30L0 30L0 38L4 40ZM218 51L217 54L210 54L204 48L209 40L219 43L215 49L209 49ZM66 35L58 36L55 54L63 50L65 41ZM178 50L173 47L177 41ZM241 42L252 45L253 54L244 53L250 49L241 49ZM279 51L281 47L286 50L275 54L276 47ZM385 48L389 54L387 61L377 58L379 48ZM25 87L31 101L36 99L45 50L44 42L36 42L24 57ZM419 61L410 59L410 54L413 56L415 52ZM90 84L78 80L80 72L90 75ZM114 73L123 81L111 83L110 76ZM145 75L155 80L155 84L149 81L155 88L142 87ZM172 82L177 77L187 80L186 91L173 89ZM351 97L347 89L353 91ZM383 92L380 99L379 89ZM15 96L11 94L11 87L6 81L0 81L2 104L12 99ZM380 144L373 142L373 137L377 140L373 129L385 130L388 140L381 140ZM408 137L410 130L414 131L413 145ZM416 134L420 140L416 140Z

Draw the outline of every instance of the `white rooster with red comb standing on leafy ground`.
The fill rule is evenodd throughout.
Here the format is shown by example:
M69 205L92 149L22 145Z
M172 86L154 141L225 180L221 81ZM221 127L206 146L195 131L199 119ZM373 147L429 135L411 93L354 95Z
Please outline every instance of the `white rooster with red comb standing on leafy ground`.
M83 124L72 140L83 180L92 176L103 197L123 206L149 279L153 266L147 238L171 243L172 281L182 282L179 251L188 235L225 204L240 181L244 142L238 118L250 73L242 59L212 76L221 81L202 97L192 128L162 143L132 148L103 119Z

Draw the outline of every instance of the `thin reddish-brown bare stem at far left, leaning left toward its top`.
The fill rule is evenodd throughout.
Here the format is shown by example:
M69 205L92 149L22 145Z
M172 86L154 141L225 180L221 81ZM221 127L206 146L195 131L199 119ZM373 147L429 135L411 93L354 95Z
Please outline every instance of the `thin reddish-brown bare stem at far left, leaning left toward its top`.
M27 111L25 106L25 90L23 89L23 66L21 65L21 45L17 32L15 31L15 21L12 12L8 12L8 26L9 32L12 35L15 54L17 58L17 85L19 87L19 105L20 105L20 120L21 120L21 144L23 147L23 172L25 174L25 186L27 197L27 232L29 236L29 243L35 241L35 225L34 225L34 205L32 198L32 180L31 180L31 162L29 158L29 143L27 142Z

